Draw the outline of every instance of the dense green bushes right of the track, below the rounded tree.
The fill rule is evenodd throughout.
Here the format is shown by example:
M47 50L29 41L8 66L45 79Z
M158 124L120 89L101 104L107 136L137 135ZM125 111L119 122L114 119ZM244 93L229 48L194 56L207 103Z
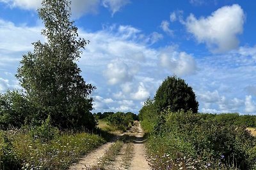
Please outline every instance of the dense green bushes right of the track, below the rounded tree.
M256 138L243 125L223 124L214 115L192 111L167 111L164 115L164 123L147 142L155 166L173 169L186 169L191 165L194 169L255 167Z

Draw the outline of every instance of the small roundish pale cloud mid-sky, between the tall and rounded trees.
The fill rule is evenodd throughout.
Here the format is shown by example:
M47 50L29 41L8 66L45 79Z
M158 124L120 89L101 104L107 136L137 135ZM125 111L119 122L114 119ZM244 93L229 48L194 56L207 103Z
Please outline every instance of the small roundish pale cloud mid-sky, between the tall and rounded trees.
M110 85L132 80L132 74L129 67L120 60L114 60L109 63L108 68L104 71L104 75L108 79Z

